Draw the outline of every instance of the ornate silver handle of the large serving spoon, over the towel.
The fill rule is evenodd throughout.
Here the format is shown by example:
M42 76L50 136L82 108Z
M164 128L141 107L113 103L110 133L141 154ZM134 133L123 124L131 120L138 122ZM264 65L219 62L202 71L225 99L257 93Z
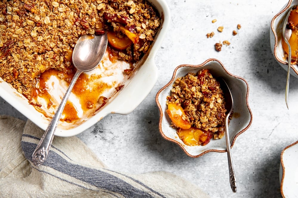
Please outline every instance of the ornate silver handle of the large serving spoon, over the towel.
M54 133L57 129L58 122L60 120L60 117L62 115L63 109L65 107L65 104L67 102L67 99L72 92L72 88L75 85L75 82L77 81L77 78L79 75L82 73L82 71L77 70L75 73L75 76L72 78L72 81L70 82L70 85L55 113L53 116L51 122L49 123L49 126L47 127L44 135L41 137L35 151L32 154L32 162L35 166L39 166L44 163L46 160L46 157L48 156L49 153L49 148L52 144L52 140L54 137Z

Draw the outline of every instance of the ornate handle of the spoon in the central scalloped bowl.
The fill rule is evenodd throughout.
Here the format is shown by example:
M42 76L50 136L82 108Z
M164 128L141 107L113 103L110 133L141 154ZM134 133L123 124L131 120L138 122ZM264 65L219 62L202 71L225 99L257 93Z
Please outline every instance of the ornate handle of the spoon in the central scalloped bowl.
M233 192L236 192L237 184L236 184L236 177L235 177L235 172L234 172L233 162L232 162L232 155L231 155L228 119L229 119L229 115L227 115L227 117L226 117L226 126L225 126L226 151L228 154L228 165L229 165L229 176L230 176L231 189Z

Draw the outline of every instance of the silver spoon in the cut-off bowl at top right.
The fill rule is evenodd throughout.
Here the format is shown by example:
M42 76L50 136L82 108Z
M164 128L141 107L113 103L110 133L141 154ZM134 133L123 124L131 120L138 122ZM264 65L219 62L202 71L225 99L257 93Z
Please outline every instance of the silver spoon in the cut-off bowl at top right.
M289 106L288 106L288 95L289 95L289 85L290 85L290 68L291 68L291 56L292 56L291 45L289 44L288 40L291 37L292 30L291 29L288 29L286 26L288 24L288 18L289 18L289 15L290 15L293 7L295 7L295 5L292 6L292 7L290 7L290 9L289 9L289 11L287 13L287 16L285 17L285 20L283 22L283 39L285 40L285 43L288 45L288 48L289 48L287 84L285 86L285 104L287 105L287 108L288 109L289 109Z

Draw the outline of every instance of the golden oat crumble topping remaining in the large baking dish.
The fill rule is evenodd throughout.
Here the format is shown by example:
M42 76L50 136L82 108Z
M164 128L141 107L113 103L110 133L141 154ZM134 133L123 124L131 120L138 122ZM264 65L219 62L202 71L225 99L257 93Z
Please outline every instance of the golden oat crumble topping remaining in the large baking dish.
M0 77L30 100L42 72L72 67L72 49L81 35L130 35L134 42L125 50L110 47L132 65L148 52L159 26L156 10L145 0L3 0Z

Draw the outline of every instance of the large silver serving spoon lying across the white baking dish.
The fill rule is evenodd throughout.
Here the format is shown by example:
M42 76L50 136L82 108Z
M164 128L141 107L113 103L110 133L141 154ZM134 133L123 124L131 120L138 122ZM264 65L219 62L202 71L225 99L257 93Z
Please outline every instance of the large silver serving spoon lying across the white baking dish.
M105 54L107 44L108 37L106 33L100 36L84 35L78 39L72 53L72 62L77 68L77 72L70 82L52 121L49 123L49 126L32 154L32 162L35 166L43 164L48 156L49 147L52 144L58 122L77 78L82 72L88 72L97 67Z

